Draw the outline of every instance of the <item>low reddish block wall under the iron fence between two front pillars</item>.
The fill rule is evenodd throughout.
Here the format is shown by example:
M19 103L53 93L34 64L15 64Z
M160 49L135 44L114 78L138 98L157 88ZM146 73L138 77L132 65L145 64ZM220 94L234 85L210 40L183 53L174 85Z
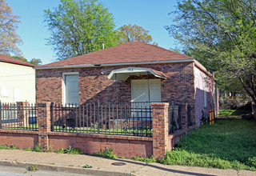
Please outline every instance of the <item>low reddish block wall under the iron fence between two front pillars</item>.
M152 138L117 136L103 134L66 134L49 133L50 147L53 150L72 146L81 149L85 154L113 149L118 157L152 156Z

